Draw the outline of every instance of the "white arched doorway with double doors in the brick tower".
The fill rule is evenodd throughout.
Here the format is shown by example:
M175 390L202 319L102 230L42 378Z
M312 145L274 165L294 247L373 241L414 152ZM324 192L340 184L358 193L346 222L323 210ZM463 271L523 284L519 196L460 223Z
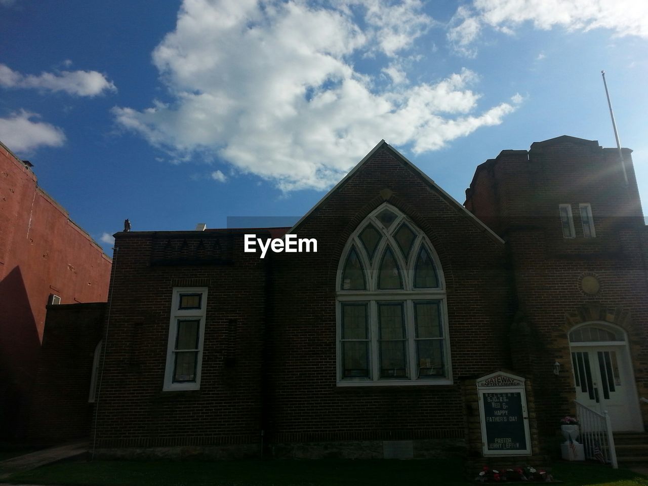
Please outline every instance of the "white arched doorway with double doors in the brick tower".
M610 415L612 430L643 432L626 332L603 321L569 332L576 399Z

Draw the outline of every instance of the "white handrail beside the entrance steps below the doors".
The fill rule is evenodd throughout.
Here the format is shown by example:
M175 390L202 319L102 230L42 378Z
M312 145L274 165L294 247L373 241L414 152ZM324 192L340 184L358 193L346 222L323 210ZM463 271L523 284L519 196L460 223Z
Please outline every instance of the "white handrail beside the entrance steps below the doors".
M607 411L599 413L592 410L578 400L576 404L576 418L581 426L581 442L587 459L601 460L610 463L614 469L619 467L614 447L612 425Z

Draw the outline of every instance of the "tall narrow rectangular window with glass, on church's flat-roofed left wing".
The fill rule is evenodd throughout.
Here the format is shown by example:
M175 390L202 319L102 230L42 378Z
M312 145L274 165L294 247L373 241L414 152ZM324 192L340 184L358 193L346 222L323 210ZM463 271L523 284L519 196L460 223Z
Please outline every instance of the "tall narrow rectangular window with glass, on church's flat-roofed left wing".
M168 327L164 391L200 389L207 287L175 287Z

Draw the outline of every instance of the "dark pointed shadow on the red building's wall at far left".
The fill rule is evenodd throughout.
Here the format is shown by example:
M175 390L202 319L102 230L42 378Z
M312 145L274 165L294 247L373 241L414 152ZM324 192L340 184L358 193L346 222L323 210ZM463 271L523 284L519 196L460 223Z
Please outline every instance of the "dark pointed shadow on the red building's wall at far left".
M23 275L16 267L0 281L0 439L25 435L39 349L36 321Z

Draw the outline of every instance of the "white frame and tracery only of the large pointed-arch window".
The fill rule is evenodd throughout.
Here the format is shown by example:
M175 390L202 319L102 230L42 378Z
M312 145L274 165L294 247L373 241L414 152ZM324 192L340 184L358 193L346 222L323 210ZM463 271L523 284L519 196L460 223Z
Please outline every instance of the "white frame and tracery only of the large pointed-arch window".
M376 220L376 214L380 213L383 209L388 208L393 213L397 214L397 218L391 224L390 228L392 233L395 232L402 222L407 222L417 237L415 238L411 249L409 262L404 262L399 247L395 242L392 235L382 233L380 244L375 250L374 261L377 262L373 266L373 271L369 272L372 268L370 262L367 260L364 248L359 235L367 225L371 223L380 231L380 222ZM378 290L378 277L380 269L380 260L384 253L385 247L389 244L393 250L393 255L399 263L402 270L402 283L403 288L400 290ZM416 264L416 255L418 255L421 246L424 245L432 261L434 262L435 270L437 272L437 279L439 286L437 288L415 289L413 287L414 271ZM362 261L364 270L365 284L368 290L340 290L342 283L342 272L349 256L351 248L356 248L356 255ZM448 308L446 303L446 290L445 279L443 278L443 270L439 262L439 257L430 243L430 240L424 235L421 229L417 227L409 218L402 214L398 209L389 203L383 203L375 209L362 223L358 225L352 233L349 241L347 242L340 264L338 265L338 275L336 279L336 384L337 386L430 386L430 385L448 385L453 383L452 379L452 359L450 356L450 336L448 332ZM406 330L406 356L408 363L408 378L395 379L395 378L380 378L380 354L379 349L379 330L378 330L378 303L389 301L402 301L404 303L404 321ZM442 378L417 378L415 375L418 369L416 365L416 341L415 337L415 318L414 318L414 303L417 301L438 301L439 302L439 318L441 319L441 326L443 332L443 353L444 364L447 371L446 375ZM342 373L342 352L341 352L341 326L342 326L342 305L345 303L353 302L366 302L368 304L369 320L369 378L343 378Z

